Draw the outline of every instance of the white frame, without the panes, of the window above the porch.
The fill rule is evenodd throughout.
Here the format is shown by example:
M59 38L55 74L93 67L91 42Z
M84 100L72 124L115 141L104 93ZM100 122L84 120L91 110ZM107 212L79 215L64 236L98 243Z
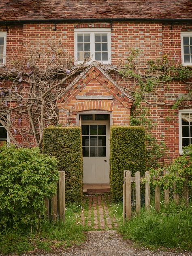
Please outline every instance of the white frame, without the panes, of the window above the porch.
M95 34L107 34L107 53L108 53L108 60L95 60L95 51L94 51L94 35ZM111 28L75 28L74 29L74 63L75 64L82 64L83 60L77 60L77 34L90 34L90 53L91 53L91 60L87 62L90 64L93 61L110 65L111 64Z

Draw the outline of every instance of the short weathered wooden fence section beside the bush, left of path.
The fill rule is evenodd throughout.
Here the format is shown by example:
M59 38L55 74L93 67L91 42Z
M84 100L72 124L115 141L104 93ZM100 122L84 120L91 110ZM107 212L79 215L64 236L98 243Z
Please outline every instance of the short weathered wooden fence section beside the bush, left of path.
M65 172L59 172L57 193L52 200L45 198L46 216L56 222L58 218L65 221Z

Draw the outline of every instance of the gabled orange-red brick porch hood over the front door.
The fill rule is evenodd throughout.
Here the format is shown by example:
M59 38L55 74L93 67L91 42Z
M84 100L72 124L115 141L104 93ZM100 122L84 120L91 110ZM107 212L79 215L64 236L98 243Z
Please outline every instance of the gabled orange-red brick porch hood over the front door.
M120 87L100 66L86 68L58 100L59 123L62 126L78 125L77 113L107 111L112 125L129 125L130 108L134 98Z

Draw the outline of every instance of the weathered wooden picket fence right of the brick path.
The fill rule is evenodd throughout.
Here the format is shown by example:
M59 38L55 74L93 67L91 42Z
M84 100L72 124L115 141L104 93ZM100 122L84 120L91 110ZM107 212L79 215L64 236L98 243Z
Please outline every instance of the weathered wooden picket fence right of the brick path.
M165 172L166 173L166 172ZM159 176L160 178L162 176ZM124 171L124 184L123 184L123 219L129 220L131 219L131 183L135 183L135 208L136 213L138 214L141 209L141 181L145 179L145 210L149 210L150 208L150 175L149 171L145 172L145 177L140 176L140 172L137 171L135 173L135 177L131 177L130 171ZM157 177L153 177L153 179L157 179ZM175 188L175 185L173 186ZM167 205L169 203L169 188L164 190L164 204ZM184 183L183 188L183 197L185 198L186 204L189 202L189 193L187 187L187 178ZM179 194L174 193L175 203L179 203ZM160 210L160 188L156 186L155 188L155 209L156 211Z

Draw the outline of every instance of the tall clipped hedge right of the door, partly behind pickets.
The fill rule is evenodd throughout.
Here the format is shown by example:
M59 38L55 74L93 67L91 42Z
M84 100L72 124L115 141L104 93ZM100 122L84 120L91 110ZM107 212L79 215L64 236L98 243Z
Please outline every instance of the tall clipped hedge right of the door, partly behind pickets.
M122 200L123 171L131 176L146 170L145 129L139 126L111 126L111 196L113 201Z

